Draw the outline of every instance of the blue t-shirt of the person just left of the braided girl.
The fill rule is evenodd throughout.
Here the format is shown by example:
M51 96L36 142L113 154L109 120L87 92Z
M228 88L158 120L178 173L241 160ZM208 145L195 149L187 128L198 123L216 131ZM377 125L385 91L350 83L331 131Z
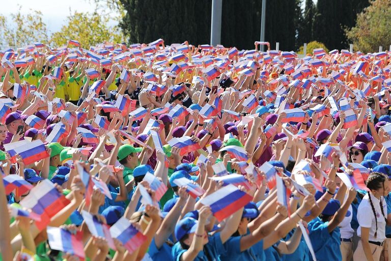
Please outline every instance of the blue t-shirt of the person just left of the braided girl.
M340 250L340 228L336 227L330 233L327 230L328 222L323 222L319 217L308 223L310 240L318 261L342 260ZM312 260L312 257L310 257Z

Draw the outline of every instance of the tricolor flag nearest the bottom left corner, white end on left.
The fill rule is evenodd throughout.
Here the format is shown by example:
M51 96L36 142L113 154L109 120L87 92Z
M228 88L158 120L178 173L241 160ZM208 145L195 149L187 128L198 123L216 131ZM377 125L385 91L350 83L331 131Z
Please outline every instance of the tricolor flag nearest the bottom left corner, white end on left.
M46 232L51 249L85 258L82 231L74 234L64 228L48 226Z

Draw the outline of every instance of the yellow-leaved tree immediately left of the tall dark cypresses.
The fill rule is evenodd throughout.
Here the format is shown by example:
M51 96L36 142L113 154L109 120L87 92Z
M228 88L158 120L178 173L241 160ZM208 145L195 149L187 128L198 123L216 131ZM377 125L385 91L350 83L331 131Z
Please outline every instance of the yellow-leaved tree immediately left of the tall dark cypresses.
M69 39L79 41L80 45L89 48L101 42L122 42L123 35L116 26L110 27L110 17L106 14L74 12L67 17L67 24L51 36L54 46L64 45Z

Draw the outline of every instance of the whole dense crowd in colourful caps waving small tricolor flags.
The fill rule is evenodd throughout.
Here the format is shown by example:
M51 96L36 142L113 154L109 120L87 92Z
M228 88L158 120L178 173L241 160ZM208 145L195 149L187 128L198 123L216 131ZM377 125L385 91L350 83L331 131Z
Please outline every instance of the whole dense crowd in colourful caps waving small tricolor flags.
M390 57L0 51L0 259L391 261Z

